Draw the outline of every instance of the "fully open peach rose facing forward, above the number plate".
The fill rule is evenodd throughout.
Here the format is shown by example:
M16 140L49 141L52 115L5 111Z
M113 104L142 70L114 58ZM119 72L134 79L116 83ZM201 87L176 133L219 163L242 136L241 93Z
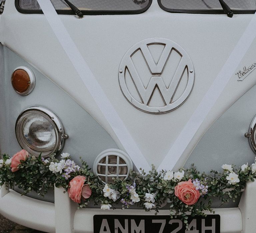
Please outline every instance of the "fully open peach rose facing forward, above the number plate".
M179 182L174 188L174 194L187 205L195 204L200 197L200 193L196 190L191 179Z

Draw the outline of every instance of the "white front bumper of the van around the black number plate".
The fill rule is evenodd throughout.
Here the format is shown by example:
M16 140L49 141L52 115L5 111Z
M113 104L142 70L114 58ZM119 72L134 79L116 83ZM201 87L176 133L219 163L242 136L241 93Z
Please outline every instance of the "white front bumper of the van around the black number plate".
M154 211L77 209L62 188L55 188L55 204L39 201L1 188L0 213L21 225L56 233L93 233L93 216L96 214L154 215ZM214 209L220 215L221 233L252 233L256 229L256 182L249 182L238 208ZM210 214L210 213L209 213ZM160 210L159 215L169 215Z

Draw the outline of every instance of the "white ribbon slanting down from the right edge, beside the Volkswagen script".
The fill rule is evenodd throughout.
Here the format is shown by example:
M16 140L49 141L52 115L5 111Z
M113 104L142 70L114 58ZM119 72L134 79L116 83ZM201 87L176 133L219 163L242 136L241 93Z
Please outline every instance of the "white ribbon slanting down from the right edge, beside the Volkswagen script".
M238 41L233 52L230 54L228 60L222 67L217 78L214 80L201 103L198 105L195 112L184 126L183 130L180 132L158 169L172 170L175 164L178 162L179 158L182 156L200 125L203 123L204 119L216 103L217 99L221 95L228 81L233 76L236 68L255 39L255 25L256 13L245 29L245 32Z

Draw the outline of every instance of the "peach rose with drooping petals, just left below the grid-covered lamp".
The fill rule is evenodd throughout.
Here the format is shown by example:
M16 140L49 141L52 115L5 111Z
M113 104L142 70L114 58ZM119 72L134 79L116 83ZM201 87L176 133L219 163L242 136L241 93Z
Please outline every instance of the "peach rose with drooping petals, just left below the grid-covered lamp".
M86 177L78 175L69 182L68 195L77 203L81 202L81 196L89 198L92 194L88 184L84 184Z

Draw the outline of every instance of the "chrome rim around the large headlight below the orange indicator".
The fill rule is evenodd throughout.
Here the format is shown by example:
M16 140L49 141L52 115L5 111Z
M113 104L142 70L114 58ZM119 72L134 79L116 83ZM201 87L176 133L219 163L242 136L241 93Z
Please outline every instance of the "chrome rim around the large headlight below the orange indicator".
M48 151L40 151L32 149L27 143L26 143L26 139L21 138L18 133L23 134L23 123L25 120L25 117L28 116L28 114L39 114L41 116L43 116L44 118L46 118L49 123L53 126L54 132L55 132L55 137L56 137L56 143L55 146L53 147L53 149L48 150ZM22 132L22 133L21 133ZM61 121L59 120L59 118L53 113L51 112L49 109L46 109L44 107L41 106L33 106L33 107L29 107L25 110L23 110L20 115L18 116L16 123L15 123L15 135L17 138L17 141L19 143L19 145L21 146L21 148L27 150L29 152L29 154L31 155L35 155L36 157L38 157L41 154L41 157L49 157L51 154L56 154L58 155L63 146L64 146L64 142L66 138L68 138L68 136L65 134L64 131L64 127L61 123Z

